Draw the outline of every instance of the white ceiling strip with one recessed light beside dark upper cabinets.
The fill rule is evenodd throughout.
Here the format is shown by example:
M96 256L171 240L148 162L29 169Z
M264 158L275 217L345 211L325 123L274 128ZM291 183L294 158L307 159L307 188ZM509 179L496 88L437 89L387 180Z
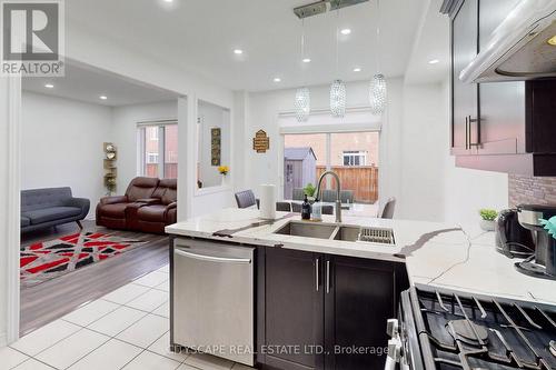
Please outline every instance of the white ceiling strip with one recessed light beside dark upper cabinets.
M449 77L449 18L439 12L443 0L429 2L407 67L407 83L444 82ZM431 60L438 63L430 64Z

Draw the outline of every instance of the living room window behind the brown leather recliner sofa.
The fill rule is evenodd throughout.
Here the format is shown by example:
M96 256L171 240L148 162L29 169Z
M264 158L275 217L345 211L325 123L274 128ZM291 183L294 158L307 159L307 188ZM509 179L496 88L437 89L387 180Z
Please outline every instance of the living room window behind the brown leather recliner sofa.
M178 177L178 124L173 122L139 124L138 130L139 174L176 179Z

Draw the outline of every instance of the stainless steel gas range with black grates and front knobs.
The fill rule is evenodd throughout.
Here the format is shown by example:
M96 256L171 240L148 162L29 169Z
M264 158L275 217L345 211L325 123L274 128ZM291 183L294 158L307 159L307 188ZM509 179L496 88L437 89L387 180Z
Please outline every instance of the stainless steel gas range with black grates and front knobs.
M398 320L388 327L390 366L556 369L556 307L417 286L403 293Z

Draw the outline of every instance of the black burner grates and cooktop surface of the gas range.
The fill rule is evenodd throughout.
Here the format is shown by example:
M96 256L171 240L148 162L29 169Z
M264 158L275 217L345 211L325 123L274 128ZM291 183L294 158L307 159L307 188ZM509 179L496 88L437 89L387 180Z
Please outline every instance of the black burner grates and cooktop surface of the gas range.
M446 320L444 328L449 334L447 338L453 340L453 344L449 344L447 338L440 336L441 332L436 331L439 337L435 338L430 329L425 327L420 330L429 339L428 346L439 351L433 356L438 366L444 363L464 370L556 370L556 341L548 343L548 340L545 342L538 337L542 333L546 339L547 334L556 333L556 322L543 309L528 306L526 311L522 306L502 304L496 299L483 299L481 303L473 296L465 297L464 306L455 292L427 293L429 304L426 306L421 297L416 294L417 307L423 314L427 313L427 322L438 326ZM435 306L440 309L435 309ZM488 308L488 314L485 307ZM552 314L554 317L554 312ZM544 329L539 323L547 328Z

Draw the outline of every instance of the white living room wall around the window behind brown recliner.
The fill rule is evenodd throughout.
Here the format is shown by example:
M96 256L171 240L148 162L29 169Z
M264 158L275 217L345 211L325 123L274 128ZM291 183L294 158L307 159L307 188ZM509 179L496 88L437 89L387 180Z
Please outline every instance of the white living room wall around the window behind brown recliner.
M138 173L137 123L167 119L178 119L177 100L112 109L112 142L118 148L116 161L118 168L118 189L116 192L118 194L126 191L129 182Z

